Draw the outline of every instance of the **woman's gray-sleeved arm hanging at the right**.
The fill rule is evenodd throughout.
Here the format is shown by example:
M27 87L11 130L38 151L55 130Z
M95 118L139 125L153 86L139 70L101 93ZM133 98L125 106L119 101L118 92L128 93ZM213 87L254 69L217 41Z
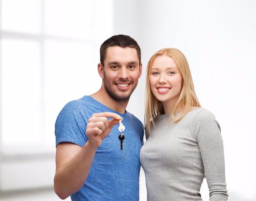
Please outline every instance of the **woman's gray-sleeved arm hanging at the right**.
M210 201L228 199L225 161L220 126L214 115L204 109L195 117L195 137L202 156Z

